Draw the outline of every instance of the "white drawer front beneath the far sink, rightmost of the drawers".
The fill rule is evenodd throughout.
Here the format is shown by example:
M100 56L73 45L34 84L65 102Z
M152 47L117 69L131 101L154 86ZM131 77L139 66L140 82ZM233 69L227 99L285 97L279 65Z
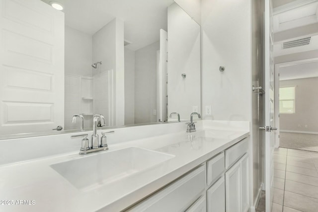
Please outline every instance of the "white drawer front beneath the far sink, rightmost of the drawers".
M225 168L230 168L248 150L248 139L245 138L225 150Z

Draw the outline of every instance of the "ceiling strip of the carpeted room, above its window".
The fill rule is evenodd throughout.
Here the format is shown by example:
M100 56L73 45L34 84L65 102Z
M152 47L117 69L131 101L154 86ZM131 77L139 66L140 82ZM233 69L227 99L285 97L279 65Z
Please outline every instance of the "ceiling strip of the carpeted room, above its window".
M281 67L279 73L279 80L318 77L318 61Z

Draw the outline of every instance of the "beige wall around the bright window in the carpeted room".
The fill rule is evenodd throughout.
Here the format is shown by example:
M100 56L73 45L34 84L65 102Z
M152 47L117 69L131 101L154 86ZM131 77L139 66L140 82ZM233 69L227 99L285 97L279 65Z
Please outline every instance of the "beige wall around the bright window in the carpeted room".
M280 130L318 133L318 77L283 80L279 83L280 87L296 86L296 112L280 114ZM308 125L308 128L305 128L305 125Z

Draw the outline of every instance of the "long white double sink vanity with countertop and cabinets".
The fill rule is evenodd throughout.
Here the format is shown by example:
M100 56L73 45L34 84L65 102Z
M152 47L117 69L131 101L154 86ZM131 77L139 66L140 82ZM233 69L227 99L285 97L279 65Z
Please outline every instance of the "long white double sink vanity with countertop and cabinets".
M249 123L200 120L196 128L114 129L109 149L88 155L79 155L80 139L70 139L77 134L13 139L25 151L47 142L47 155L0 165L0 199L35 203L0 211L248 211ZM51 148L68 145L72 151Z

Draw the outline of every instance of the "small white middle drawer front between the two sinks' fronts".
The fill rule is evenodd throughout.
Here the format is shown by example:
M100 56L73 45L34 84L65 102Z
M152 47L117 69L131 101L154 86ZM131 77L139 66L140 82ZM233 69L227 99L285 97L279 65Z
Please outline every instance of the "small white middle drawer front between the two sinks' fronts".
M222 152L207 162L207 184L214 183L225 170L225 153Z

